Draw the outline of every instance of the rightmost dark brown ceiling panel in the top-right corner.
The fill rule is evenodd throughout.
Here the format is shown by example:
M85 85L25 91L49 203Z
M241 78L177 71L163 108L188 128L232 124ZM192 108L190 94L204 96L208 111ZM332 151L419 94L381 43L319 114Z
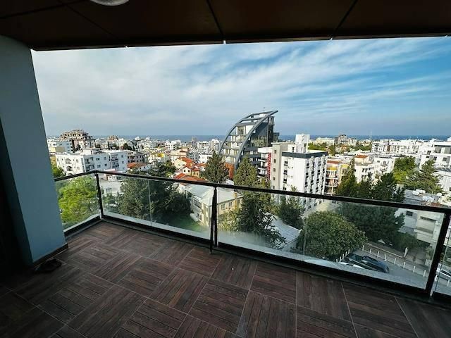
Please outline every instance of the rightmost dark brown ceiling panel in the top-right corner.
M337 37L444 35L451 32L450 0L359 0Z

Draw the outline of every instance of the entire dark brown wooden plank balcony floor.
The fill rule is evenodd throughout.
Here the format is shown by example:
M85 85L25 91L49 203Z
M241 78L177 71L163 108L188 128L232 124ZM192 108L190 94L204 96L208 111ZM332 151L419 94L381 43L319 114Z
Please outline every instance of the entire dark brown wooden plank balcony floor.
M451 312L99 223L0 284L0 337L451 337Z

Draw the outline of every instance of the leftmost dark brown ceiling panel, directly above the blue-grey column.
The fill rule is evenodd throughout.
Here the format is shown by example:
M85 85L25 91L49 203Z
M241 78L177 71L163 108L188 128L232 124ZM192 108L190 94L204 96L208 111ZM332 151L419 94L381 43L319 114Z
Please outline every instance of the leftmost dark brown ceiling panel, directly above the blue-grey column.
M0 20L0 34L17 39L33 49L116 44L111 35L67 7Z

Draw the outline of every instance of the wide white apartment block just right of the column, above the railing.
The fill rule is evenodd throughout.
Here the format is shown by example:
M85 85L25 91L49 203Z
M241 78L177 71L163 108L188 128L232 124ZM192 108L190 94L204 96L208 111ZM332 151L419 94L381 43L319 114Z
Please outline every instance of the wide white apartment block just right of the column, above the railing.
M87 173L92 170L127 171L127 152L99 151L98 149L82 149L73 154L56 154L56 165L66 175Z

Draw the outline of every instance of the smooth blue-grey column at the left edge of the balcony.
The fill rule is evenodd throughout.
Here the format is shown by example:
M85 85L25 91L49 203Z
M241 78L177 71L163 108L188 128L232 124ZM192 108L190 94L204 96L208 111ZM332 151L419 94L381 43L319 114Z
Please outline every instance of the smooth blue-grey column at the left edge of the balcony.
M0 36L0 173L24 263L66 243L30 49Z

